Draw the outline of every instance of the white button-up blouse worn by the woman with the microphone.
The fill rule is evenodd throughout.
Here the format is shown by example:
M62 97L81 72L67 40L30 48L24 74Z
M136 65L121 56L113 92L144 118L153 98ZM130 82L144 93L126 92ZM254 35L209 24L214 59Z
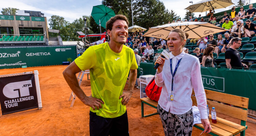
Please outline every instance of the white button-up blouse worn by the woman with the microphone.
M172 71L182 58L173 80L174 99L168 101L171 96L172 74L170 59L172 58ZM196 56L182 51L181 54L174 56L170 53L170 59L165 60L163 71L155 75L155 83L162 87L158 104L172 114L184 114L192 108L191 94L194 88L197 106L201 119L207 119L206 96L200 71L200 62Z

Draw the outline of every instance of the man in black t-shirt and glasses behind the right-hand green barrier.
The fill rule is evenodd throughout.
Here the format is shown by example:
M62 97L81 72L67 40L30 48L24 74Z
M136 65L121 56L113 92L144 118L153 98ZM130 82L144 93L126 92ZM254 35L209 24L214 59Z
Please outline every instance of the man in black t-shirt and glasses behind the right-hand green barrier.
M225 52L227 68L248 68L247 65L241 62L240 54L237 49L241 46L242 39L239 37L233 38L230 47Z

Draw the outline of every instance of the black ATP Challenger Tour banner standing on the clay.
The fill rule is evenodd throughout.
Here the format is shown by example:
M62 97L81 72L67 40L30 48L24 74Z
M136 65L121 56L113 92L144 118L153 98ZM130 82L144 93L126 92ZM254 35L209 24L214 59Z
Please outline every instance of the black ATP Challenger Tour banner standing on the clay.
M2 115L37 108L37 90L34 74L0 78Z

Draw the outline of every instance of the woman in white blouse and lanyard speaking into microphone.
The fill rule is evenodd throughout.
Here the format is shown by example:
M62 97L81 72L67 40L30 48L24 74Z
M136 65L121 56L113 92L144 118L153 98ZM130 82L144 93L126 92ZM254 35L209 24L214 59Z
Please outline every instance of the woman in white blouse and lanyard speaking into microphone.
M165 60L160 55L155 62L159 64L155 83L162 87L157 111L165 136L191 136L194 119L191 100L193 88L204 127L203 133L210 133L212 130L207 115L199 60L182 51L187 37L188 34L181 29L172 30L167 40L170 58Z

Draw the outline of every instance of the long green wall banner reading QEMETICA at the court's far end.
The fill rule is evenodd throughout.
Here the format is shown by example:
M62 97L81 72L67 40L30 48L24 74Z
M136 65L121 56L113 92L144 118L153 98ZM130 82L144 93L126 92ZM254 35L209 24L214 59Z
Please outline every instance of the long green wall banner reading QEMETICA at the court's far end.
M61 65L76 58L74 46L0 47L0 69Z

